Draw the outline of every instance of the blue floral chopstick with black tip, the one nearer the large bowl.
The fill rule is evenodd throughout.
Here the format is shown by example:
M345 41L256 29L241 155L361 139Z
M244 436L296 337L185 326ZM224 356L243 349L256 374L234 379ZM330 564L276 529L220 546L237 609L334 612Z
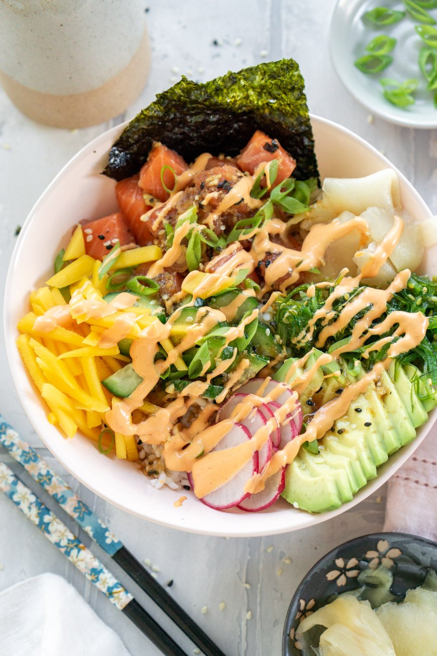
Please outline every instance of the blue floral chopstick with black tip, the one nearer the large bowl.
M9 451L28 474L69 514L105 553L146 592L149 597L179 626L205 656L225 656L206 633L181 608L156 579L144 569L124 544L62 480L37 452L0 415L0 445Z

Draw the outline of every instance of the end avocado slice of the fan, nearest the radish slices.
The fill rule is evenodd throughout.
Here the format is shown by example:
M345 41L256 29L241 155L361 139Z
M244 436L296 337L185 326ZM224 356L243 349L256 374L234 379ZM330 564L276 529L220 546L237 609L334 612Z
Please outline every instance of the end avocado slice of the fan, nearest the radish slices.
M314 476L299 455L286 470L282 497L308 512L334 510L342 503L335 478L326 474Z

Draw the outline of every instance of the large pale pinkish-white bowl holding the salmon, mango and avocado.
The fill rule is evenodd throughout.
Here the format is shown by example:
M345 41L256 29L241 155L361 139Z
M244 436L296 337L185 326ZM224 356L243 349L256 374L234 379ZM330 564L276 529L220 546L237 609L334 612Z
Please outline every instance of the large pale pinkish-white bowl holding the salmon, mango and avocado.
M331 121L315 116L312 121L322 178L364 176L392 167L398 174L404 207L418 220L430 216L427 205L408 180L375 148ZM28 312L29 291L47 280L54 255L62 247L62 237L71 226L85 216L99 218L115 210L115 182L100 175L100 171L122 129L123 126L118 126L98 136L56 176L28 216L10 262L5 295L6 348L18 396L37 434L58 461L100 497L138 517L193 533L225 536L286 533L324 522L351 508L385 483L415 451L437 410L419 429L416 440L392 455L379 468L378 478L360 490L353 501L321 515L295 510L282 499L260 513L219 512L202 504L193 493L187 493L189 498L183 506L174 508L180 491L155 490L132 464L104 457L80 434L66 440L48 423L43 403L29 382L16 350L16 324ZM437 274L436 255L437 247L427 253L423 271Z

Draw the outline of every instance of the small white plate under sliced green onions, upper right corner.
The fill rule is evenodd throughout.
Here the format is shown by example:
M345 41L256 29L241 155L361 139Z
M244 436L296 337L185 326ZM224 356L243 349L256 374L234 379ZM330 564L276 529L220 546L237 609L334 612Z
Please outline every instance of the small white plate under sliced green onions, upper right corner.
M397 125L435 128L437 109L434 107L434 92L427 91L427 81L419 70L419 51L425 45L414 29L419 23L408 13L398 23L383 27L370 26L362 21L366 11L387 4L390 9L405 11L402 2L337 0L330 27L330 53L333 66L352 96L370 112ZM428 13L437 20L437 9L428 10ZM434 27L437 28L437 25ZM394 51L390 53L393 62L381 73L367 75L354 66L354 61L366 54L366 45L380 34L387 34L397 40ZM379 83L380 77L392 77L398 81L415 77L419 80L419 87L414 94L415 104L406 109L390 104L383 96L383 87Z

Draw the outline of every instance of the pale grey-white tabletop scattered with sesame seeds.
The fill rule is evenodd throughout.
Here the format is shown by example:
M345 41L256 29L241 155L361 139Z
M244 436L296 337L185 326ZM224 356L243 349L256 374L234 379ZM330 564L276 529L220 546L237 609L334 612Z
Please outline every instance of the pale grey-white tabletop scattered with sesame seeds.
M410 131L377 119L368 122L368 112L343 89L330 64L328 27L332 4L331 0L151 1L147 13L153 47L151 77L126 117L132 117L153 99L155 92L176 81L178 73L206 80L229 68L238 70L261 60L292 56L303 70L311 112L349 127L383 150L436 211L435 133ZM213 45L214 39L218 45ZM240 45L236 45L238 39ZM178 72L172 70L174 67ZM69 158L107 127L110 125L71 132L36 125L0 91L2 298L16 226L24 222L33 203ZM41 442L31 430L12 386L3 344L0 348L0 411L39 449ZM45 449L41 448L41 453L51 461ZM3 452L0 459L10 460ZM62 473L56 463L54 466ZM263 539L200 537L123 514L70 476L66 478L140 560L149 559L151 565L159 567L159 581L165 584L174 579L172 594L230 656L280 654L286 609L309 567L333 546L356 535L379 531L383 525L381 489L382 501L375 495L335 520L309 530ZM0 521L0 590L37 573L56 572L71 581L98 615L119 632L133 655L158 653L3 497ZM285 562L288 558L289 563ZM135 586L131 588L137 592ZM144 595L138 594L138 598L151 607ZM226 607L220 611L222 601ZM203 615L200 609L204 605L208 611ZM247 619L249 611L251 619ZM151 612L160 617L155 610ZM165 619L162 623L166 625ZM172 631L170 627L168 630ZM185 644L185 648L187 653L193 652L193 645Z

